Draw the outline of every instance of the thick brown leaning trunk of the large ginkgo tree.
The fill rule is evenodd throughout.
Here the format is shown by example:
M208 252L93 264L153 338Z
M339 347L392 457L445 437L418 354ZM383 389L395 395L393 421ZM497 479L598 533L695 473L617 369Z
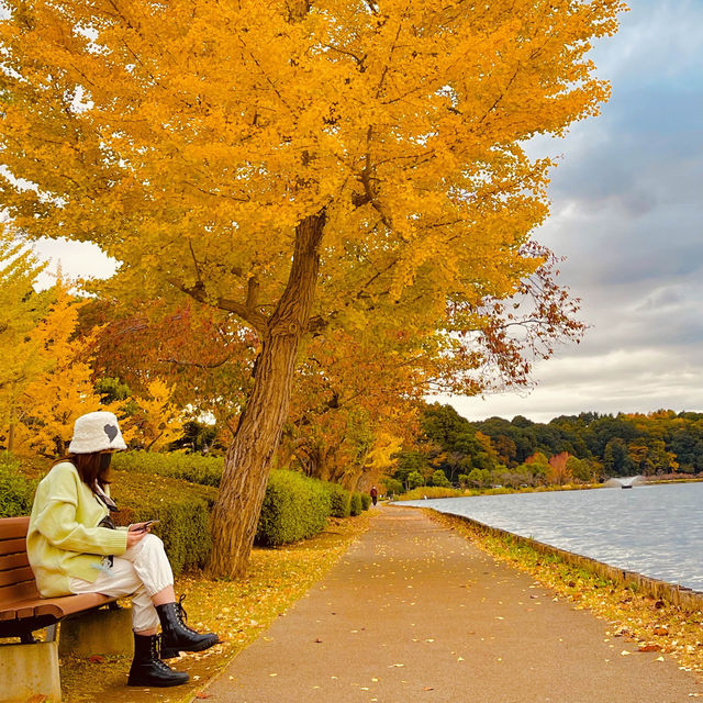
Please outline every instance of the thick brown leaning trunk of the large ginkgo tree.
M312 309L325 225L324 210L295 227L288 284L271 315L254 371L254 388L224 461L212 516L208 576L242 576L252 553L271 460L288 417L298 347Z

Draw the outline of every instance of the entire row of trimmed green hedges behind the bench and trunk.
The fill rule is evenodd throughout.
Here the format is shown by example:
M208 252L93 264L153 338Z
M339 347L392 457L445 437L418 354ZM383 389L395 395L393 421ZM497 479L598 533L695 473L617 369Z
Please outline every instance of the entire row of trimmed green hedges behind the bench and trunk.
M47 467L48 468L48 467ZM111 493L121 525L158 520L154 532L164 540L175 574L202 568L212 547L210 513L222 476L222 459L185 454L129 451L113 457ZM0 517L29 515L36 481L20 462L0 458ZM274 547L322 532L327 517L359 515L370 505L367 494L337 483L287 470L272 471L259 517L256 543Z

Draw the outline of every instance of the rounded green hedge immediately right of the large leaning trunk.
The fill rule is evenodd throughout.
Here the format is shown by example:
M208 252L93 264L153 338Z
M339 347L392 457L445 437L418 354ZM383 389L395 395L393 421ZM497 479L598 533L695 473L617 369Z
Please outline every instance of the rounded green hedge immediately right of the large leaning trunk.
M276 547L312 537L325 528L330 492L322 481L293 471L271 471L256 543Z

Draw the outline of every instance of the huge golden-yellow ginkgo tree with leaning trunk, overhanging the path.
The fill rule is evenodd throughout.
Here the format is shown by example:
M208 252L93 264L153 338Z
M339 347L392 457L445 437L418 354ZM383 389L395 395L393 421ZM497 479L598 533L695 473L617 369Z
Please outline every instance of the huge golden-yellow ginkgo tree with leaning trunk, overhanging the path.
M190 297L258 337L213 515L243 571L306 335L435 335L543 263L549 161L595 114L621 0L3 0L1 197L99 244L119 300ZM490 316L490 310L484 314ZM449 325L451 328L454 325ZM450 335L447 335L450 336ZM470 362L470 359L467 361Z

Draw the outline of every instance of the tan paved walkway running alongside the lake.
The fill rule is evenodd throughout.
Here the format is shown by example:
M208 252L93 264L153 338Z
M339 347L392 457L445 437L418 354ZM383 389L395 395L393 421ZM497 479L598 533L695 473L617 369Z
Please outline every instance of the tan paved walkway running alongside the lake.
M420 511L378 509L214 703L690 703L703 683ZM622 654L624 650L632 656Z

